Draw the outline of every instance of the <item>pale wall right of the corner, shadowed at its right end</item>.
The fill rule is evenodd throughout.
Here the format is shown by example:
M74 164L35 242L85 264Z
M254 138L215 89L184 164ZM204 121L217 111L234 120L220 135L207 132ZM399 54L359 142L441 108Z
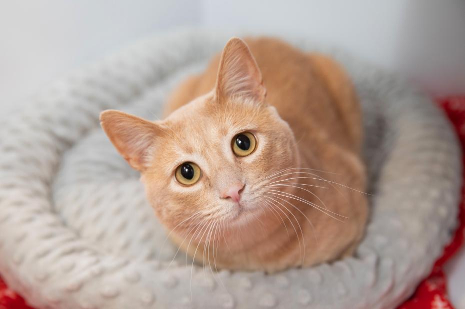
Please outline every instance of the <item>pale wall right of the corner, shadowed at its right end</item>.
M463 0L201 1L207 27L301 34L411 76L432 94L465 93Z

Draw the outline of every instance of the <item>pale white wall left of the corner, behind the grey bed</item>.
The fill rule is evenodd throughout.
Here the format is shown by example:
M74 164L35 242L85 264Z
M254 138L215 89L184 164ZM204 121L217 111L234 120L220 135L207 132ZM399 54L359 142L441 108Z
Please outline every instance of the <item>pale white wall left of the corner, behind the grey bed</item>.
M66 72L200 16L186 0L0 0L0 116Z

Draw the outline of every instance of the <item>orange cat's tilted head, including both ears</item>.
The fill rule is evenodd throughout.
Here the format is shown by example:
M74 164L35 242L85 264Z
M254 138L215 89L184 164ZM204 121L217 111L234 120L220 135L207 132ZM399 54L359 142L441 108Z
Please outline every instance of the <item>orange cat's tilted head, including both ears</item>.
M294 135L265 94L247 45L232 38L209 93L160 121L114 110L100 120L118 152L140 171L149 202L168 228L240 222L264 212L275 173L298 164Z

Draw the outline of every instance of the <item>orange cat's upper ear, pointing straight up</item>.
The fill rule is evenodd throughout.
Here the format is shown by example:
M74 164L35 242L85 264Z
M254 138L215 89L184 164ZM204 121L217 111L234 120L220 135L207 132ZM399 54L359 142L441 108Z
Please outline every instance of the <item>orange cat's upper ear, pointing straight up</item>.
M265 99L260 69L247 44L238 37L229 39L223 48L215 94L220 102L232 96L248 97L260 103Z

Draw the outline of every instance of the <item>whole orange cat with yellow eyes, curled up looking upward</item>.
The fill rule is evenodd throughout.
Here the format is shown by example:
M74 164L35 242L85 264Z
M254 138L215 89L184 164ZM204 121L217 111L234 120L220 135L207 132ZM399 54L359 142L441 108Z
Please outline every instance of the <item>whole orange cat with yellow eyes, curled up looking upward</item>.
M100 123L194 261L273 273L353 254L368 215L361 111L330 57L233 37L164 114Z

